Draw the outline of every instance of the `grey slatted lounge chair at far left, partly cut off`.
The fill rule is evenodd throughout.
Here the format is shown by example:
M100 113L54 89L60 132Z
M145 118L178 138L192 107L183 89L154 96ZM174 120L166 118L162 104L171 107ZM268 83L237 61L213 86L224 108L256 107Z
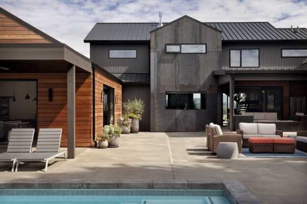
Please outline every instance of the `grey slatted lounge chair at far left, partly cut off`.
M7 152L0 154L0 162L13 162L12 172L17 157L29 155L31 152L35 129L12 129Z

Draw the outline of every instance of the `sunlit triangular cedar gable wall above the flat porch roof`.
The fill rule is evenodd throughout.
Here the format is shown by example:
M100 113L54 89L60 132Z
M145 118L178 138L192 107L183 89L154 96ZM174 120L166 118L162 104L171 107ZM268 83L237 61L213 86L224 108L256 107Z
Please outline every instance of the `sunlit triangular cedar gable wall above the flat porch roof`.
M0 43L51 43L44 37L0 13Z

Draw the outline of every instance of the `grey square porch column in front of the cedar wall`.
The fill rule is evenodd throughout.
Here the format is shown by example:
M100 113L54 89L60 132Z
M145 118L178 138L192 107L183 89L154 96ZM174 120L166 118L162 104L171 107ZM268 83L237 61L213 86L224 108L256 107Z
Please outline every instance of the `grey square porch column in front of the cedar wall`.
M76 67L67 72L67 157L75 158L76 148Z

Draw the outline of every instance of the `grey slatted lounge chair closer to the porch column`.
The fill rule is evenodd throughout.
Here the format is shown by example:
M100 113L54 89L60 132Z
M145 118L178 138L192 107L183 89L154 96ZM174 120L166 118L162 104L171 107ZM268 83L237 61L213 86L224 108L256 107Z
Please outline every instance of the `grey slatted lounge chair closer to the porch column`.
M15 171L18 171L19 163L43 161L46 162L45 171L47 171L49 160L60 155L63 155L66 160L65 151L60 151L61 136L61 128L39 129L36 151L29 155L18 157Z

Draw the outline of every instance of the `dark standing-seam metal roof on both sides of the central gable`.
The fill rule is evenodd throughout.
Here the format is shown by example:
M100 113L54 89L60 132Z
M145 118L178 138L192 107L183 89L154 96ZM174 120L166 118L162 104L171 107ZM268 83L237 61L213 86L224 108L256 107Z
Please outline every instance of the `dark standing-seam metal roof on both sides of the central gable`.
M178 20L178 19L177 19ZM172 21L174 22L174 21ZM204 22L222 31L222 41L283 41L307 40L307 29L294 33L288 28L275 28L269 22ZM163 23L163 27L168 23ZM157 29L158 22L96 23L84 42L97 41L149 41L149 33ZM162 27L162 28L163 28Z

